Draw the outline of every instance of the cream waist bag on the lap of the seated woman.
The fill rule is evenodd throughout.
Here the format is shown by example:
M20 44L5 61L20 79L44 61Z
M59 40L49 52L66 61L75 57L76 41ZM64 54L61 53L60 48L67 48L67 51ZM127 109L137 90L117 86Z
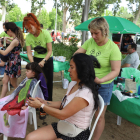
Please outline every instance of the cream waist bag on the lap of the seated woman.
M67 122L65 120L60 120L57 123L57 130L59 133L68 136L68 137L76 137L78 134L80 134L82 131L85 131L85 129L81 129L77 127L76 125Z

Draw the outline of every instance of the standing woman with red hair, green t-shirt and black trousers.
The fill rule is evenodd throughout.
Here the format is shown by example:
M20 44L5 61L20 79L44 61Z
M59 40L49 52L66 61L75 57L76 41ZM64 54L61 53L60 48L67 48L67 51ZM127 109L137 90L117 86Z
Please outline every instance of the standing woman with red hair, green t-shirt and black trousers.
M29 32L26 36L27 55L30 62L39 63L47 80L49 101L52 101L53 88L53 52L52 38L47 30L40 28L40 23L33 13L28 13L23 19L24 28ZM32 56L31 47L34 49Z

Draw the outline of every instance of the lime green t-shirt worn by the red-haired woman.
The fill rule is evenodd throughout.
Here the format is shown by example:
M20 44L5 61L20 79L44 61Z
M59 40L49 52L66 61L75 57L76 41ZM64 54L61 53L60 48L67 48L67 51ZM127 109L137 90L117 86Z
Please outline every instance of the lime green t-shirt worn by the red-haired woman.
M26 46L32 46L32 48L35 48L36 46L42 46L43 48L47 49L46 43L50 42L52 42L52 38L47 30L42 29L38 37L35 37L30 33L26 36ZM34 57L44 58L46 55L47 52L44 54L38 54L36 51L34 51ZM52 56L53 52L50 57Z

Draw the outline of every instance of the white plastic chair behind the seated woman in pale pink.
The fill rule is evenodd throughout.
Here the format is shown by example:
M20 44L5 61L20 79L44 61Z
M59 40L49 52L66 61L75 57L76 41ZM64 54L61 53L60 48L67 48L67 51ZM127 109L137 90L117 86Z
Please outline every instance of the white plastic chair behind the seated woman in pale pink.
M93 124L93 126L92 126L92 129L91 129L91 132L90 132L90 135L89 135L88 140L91 140L92 135L93 135L94 130L95 130L95 127L96 127L96 125L97 125L97 122L98 122L98 120L99 120L99 118L100 118L100 116L101 116L101 114L102 114L102 112L103 112L103 109L104 109L104 100L103 100L103 98L102 98L100 95L98 95L98 97L99 97L99 114L98 114L98 116L97 116L97 118L96 118L96 120L95 120L95 122L94 122L94 124ZM91 118L91 123L92 123L92 120L93 120L93 117L94 117L95 112L96 112L96 110L93 112L93 116L92 116L92 118ZM90 125L91 125L91 124L90 124ZM91 126L90 126L90 127L91 127ZM89 127L89 128L90 128L90 127Z

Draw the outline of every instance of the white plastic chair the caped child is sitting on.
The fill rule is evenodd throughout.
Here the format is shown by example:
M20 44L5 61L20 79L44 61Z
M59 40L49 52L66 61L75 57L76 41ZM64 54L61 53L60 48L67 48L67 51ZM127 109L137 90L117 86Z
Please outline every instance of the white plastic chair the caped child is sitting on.
M39 86L40 80L35 85L35 88L32 93L32 97L35 98L36 92L37 92L37 87ZM32 118L34 122L34 129L37 130L37 118L36 118L36 109L33 107L28 106L28 112L29 112L29 123L32 124ZM8 140L8 137L6 135L3 135L3 140Z

